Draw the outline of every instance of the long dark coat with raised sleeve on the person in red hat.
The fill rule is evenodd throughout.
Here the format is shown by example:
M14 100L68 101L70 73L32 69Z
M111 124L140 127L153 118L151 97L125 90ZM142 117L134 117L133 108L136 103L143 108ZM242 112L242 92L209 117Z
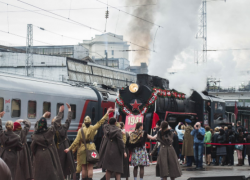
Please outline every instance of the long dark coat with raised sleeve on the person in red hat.
M23 121L24 128L22 130L14 131L15 134L19 135L23 144L23 150L17 152L18 165L16 171L16 180L33 179L33 169L30 158L30 149L27 144L27 135L30 130L30 122L28 120Z

